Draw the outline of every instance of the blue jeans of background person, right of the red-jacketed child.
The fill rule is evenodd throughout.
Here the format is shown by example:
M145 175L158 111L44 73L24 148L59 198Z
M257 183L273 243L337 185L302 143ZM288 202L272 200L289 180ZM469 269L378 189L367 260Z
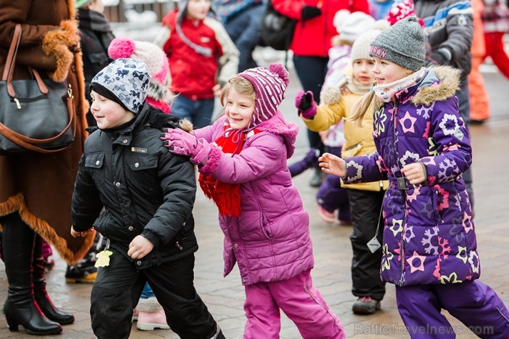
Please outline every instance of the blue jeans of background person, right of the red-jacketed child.
M257 63L252 58L252 51L260 42L260 25L264 11L265 6L260 3L243 10L224 25L230 39L240 52L239 73L248 68L257 67Z

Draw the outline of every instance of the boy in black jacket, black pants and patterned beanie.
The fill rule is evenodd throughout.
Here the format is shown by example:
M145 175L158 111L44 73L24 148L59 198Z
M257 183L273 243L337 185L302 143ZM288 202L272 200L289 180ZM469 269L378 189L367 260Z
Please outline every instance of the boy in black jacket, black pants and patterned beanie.
M149 80L147 65L119 58L90 85L97 128L80 160L71 233L95 228L107 239L91 292L92 329L98 338L129 338L148 281L180 338L224 338L193 285L193 164L162 145L161 129L177 128L178 118L145 102Z

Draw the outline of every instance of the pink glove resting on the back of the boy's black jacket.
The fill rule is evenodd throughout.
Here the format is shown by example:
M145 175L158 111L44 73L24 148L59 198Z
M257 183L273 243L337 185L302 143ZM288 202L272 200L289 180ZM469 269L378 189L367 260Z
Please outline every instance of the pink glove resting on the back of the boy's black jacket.
M191 157L191 162L195 165L204 165L208 160L210 144L182 129L166 129L166 133L162 133L160 139L168 151Z

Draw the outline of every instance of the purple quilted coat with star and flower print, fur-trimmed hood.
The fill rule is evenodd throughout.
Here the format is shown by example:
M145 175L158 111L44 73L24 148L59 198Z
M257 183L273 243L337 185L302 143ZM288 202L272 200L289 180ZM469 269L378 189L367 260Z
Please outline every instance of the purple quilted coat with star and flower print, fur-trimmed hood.
M347 182L389 178L383 281L403 286L479 278L472 210L461 177L472 162L472 149L454 96L458 84L459 71L451 67L427 69L396 102L378 102L373 117L377 152L346 159ZM400 169L418 161L428 176L413 186Z

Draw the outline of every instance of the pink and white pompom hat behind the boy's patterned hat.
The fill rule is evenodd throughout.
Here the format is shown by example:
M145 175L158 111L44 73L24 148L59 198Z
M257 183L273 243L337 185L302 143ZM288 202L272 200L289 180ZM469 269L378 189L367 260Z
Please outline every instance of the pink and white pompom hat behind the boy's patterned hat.
M126 37L113 39L108 47L109 57L132 58L143 61L149 67L150 86L147 102L153 107L170 112L172 95L169 90L171 83L168 58L160 47L147 41L134 41Z

